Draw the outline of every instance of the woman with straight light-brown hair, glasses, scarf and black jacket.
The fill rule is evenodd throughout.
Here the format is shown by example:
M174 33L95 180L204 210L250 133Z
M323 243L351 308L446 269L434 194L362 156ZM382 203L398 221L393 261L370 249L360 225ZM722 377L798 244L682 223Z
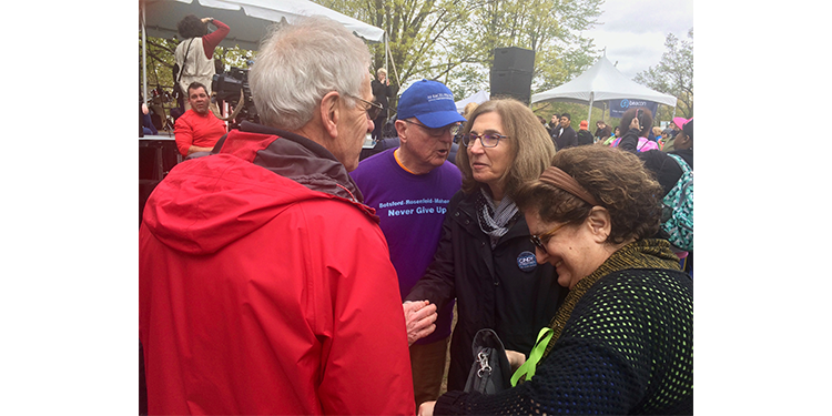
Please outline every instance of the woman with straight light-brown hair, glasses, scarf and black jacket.
M457 166L463 186L447 205L434 261L406 301L438 310L457 300L448 389L463 389L481 328L507 349L528 354L565 290L551 264L537 264L526 220L514 196L550 164L555 145L528 106L517 100L479 105L460 133Z

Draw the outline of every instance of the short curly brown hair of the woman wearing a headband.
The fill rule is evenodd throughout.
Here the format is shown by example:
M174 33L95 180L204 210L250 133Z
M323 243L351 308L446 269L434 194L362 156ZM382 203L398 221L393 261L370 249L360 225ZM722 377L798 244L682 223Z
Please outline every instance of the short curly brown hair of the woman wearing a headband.
M607 242L621 244L658 233L662 187L635 154L582 145L557 152L551 165L572 176L607 209L611 221ZM592 209L581 199L540 180L522 186L515 202L521 211L538 211L540 219L549 223L578 224Z

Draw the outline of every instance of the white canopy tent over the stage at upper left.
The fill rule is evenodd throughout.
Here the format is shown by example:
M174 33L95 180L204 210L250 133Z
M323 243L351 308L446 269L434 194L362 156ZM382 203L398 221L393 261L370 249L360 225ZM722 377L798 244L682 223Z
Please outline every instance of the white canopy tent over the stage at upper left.
M300 17L325 16L341 22L353 33L368 42L385 41L383 29L362 22L308 0L140 0L142 17L142 68L144 98L148 99L145 37L171 39L176 35L176 23L186 14L215 18L231 28L220 42L223 47L239 44L257 50L260 40L270 26L285 21L293 23ZM146 32L146 34L145 34Z

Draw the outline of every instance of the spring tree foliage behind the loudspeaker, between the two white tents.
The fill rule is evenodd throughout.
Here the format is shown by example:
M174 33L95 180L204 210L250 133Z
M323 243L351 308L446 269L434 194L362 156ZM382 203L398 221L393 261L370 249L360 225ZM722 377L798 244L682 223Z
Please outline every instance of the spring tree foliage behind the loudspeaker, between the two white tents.
M519 47L536 52L535 92L579 74L598 55L591 42L577 33L595 23L602 0L318 2L386 30L390 49L386 64L393 83L439 80L456 97L488 88L495 48ZM384 45L371 49L374 67L381 68L385 64Z

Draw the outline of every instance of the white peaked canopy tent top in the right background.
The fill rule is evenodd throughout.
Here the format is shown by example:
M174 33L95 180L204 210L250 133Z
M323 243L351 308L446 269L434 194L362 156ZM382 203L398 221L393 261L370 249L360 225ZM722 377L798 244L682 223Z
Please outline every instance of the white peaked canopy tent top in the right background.
M623 99L653 101L674 109L677 101L673 95L656 92L631 81L603 55L578 78L551 90L532 94L531 103L560 101L589 104L589 120L592 106L603 109L606 101Z

